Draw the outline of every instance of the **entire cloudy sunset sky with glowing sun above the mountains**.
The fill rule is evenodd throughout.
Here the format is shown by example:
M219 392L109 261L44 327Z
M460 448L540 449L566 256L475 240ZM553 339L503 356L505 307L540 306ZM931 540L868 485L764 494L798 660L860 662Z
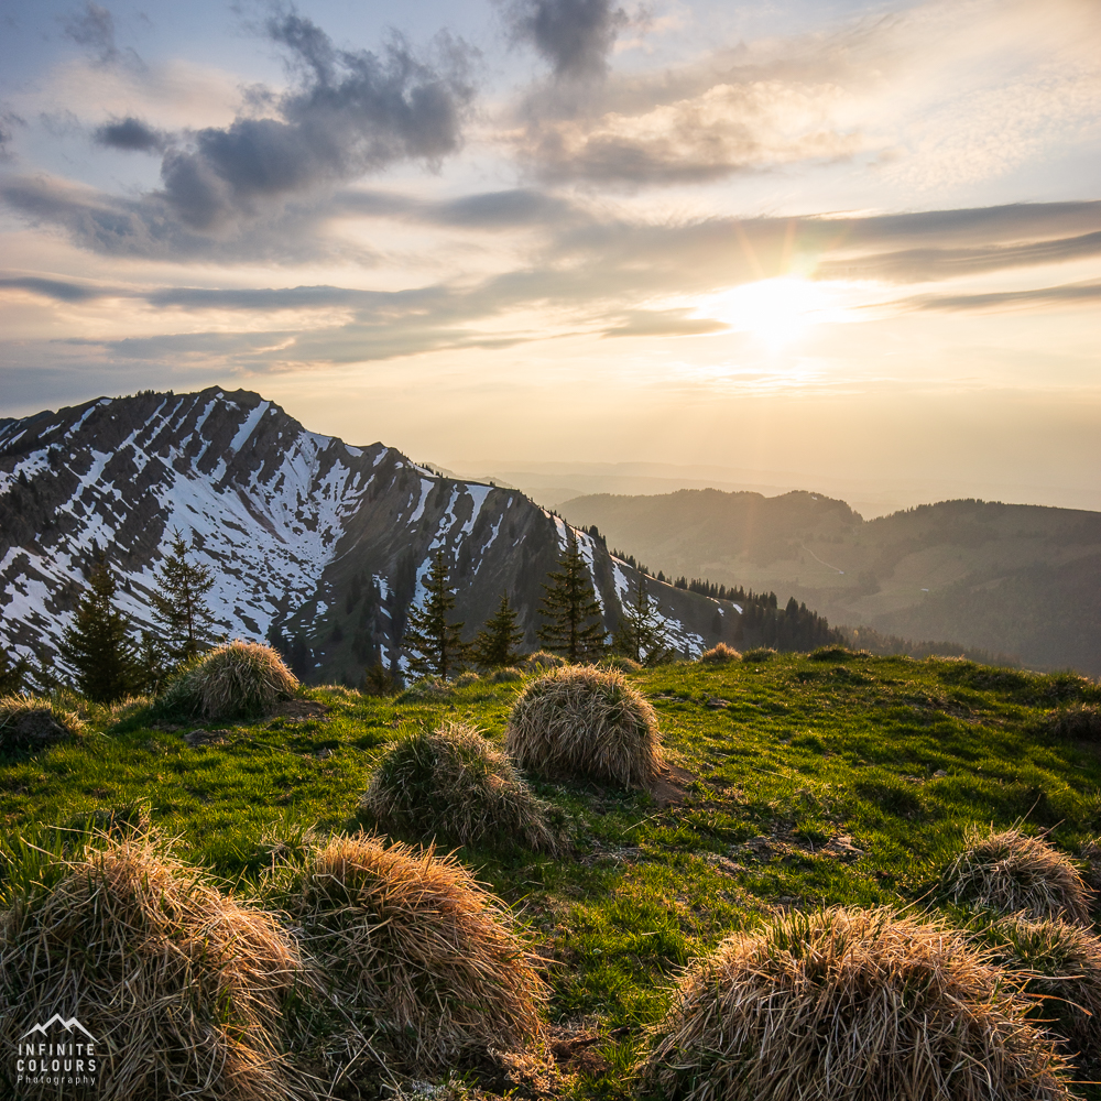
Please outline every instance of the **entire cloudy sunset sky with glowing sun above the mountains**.
M1101 3L0 0L0 416L215 384L1101 509Z

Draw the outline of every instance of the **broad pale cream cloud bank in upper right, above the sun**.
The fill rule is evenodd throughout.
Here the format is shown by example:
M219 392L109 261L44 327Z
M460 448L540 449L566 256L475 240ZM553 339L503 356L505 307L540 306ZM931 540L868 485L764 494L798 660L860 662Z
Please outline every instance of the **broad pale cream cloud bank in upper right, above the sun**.
M537 177L629 189L848 160L917 192L974 185L1097 130L1099 12L927 0L584 96L535 81L512 140Z

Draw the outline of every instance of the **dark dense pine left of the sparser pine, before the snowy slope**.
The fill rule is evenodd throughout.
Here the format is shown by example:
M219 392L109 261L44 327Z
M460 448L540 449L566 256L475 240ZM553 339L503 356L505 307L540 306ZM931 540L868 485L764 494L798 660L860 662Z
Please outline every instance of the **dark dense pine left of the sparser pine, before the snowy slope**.
M58 650L76 671L77 688L97 704L113 704L135 687L129 617L115 607L115 578L100 559Z

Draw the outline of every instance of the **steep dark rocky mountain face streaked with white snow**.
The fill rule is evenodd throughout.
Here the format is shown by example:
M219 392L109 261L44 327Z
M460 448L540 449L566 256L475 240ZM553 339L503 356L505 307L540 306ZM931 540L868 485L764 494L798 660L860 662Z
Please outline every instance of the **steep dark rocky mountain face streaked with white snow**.
M567 539L559 517L516 490L307 432L259 394L102 397L0 421L0 641L53 659L100 555L120 607L150 626L174 530L210 568L209 601L229 637L276 641L299 676L348 683L380 657L401 667L407 611L439 548L465 635L506 591L536 648L542 582ZM635 571L599 537L576 534L612 631ZM729 603L650 589L682 653L732 636Z

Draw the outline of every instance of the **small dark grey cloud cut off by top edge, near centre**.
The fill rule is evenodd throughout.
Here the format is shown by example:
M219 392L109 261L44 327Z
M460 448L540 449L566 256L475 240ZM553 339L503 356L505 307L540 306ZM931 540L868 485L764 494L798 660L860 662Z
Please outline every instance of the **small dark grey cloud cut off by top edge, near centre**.
M611 0L511 0L504 15L513 40L534 46L559 79L603 75L630 22Z

